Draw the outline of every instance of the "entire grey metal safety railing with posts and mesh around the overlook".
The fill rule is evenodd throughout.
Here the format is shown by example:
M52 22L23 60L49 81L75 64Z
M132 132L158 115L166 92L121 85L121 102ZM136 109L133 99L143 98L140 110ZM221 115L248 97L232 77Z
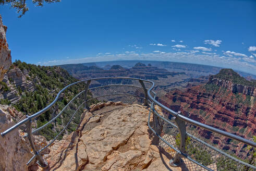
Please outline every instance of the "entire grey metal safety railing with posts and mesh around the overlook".
M119 84L116 83L116 80L118 80L117 82ZM128 80L128 81L124 81L124 80ZM44 114L50 108L54 107L54 105L57 104L58 99L62 97L62 94L65 94L65 90L67 90L72 86L78 85L80 83L82 84L86 83L83 91L76 94L66 104L66 106L63 107L63 109L56 116L48 120L47 123L45 123L43 126L39 128L32 130L31 123L33 123L33 121L36 121L36 119L39 116ZM126 89L130 88L130 90L126 91L126 89L122 89L121 87L126 87ZM34 158L36 158L39 166L43 168L48 167L48 163L46 160L47 154L45 155L44 151L48 148L51 148L51 151L53 151L58 149L59 145L63 145L64 140L62 140L62 137L70 133L70 130L72 130L72 129L68 129L70 125L75 126L77 129L77 127L79 126L81 114L83 113L83 108L88 109L89 103L91 100L101 99L104 97L112 97L112 99L114 99L114 96L118 96L119 100L122 100L123 96L131 96L131 97L135 97L136 99L138 98L144 99L143 100L144 105L150 105L148 126L152 130L152 132L156 135L156 137L158 137L160 140L159 144L157 145L159 145L165 152L171 155L172 157L172 160L170 160L171 166L176 167L183 160L186 163L186 165L188 165L190 170L191 169L200 170L197 168L198 166L204 170L225 170L226 167L223 167L223 164L218 163L216 159L216 158L221 158L222 161L225 161L227 159L227 163L229 162L229 160L237 162L237 168L241 168L241 170L256 169L255 165L251 163L247 163L230 154L227 154L226 152L217 149L215 146L210 145L209 143L206 143L205 141L202 141L197 137L194 137L191 133L187 132L186 128L188 127L189 124L191 124L191 125L200 127L201 129L214 132L217 135L234 139L236 141L239 141L240 143L245 143L247 145L252 146L252 148L256 147L255 142L236 136L232 133L225 132L223 130L202 124L196 120L193 120L191 118L188 118L182 115L180 112L174 112L173 110L164 106L163 104L161 104L155 99L156 94L152 91L153 88L154 88L154 82L149 80L137 79L137 78L106 77L106 78L81 80L66 86L64 89L59 91L59 93L55 97L55 100L50 105L48 105L47 107L45 107L44 109L42 109L41 111L33 115L30 115L30 116L27 115L26 119L20 121L16 125L2 132L1 136L2 138L4 138L4 136L7 133L10 133L14 129L25 124L27 133L24 137L28 138L28 140L30 141L31 148L34 153L32 158L28 161L27 165L29 165L29 163L31 163L34 160ZM100 89L100 91L98 89ZM107 92L108 89L111 91ZM137 91L137 89L140 91ZM94 94L92 94L91 96L88 95L89 91L94 92ZM126 92L117 93L118 91L126 91ZM104 94L102 92L106 92L106 93ZM131 92L133 92L133 94ZM138 103L139 101L130 99L130 102ZM166 113L173 115L174 119L169 120L165 116L160 115L156 111L155 105L159 106ZM152 113L153 113L153 123L150 123L150 117ZM32 135L39 135L40 131L44 132L44 130L47 130L46 129L47 127L53 126L56 120L59 118L62 118L62 120L60 119L60 123L63 123L63 125L56 126L55 129L58 130L57 133L55 133L52 137L48 138L49 141L47 142L46 145L42 146L41 149L36 148L36 145L34 143L34 137ZM57 127L60 127L60 129L57 129ZM170 131L171 133L165 133L166 130ZM196 146L195 148L194 146L197 144L199 145ZM204 146L203 149L202 149L202 146ZM191 152L191 149L193 151L197 149L198 151L203 151L205 155L208 155L206 154L206 152L210 152L211 153L210 155L212 155L211 157L212 158L214 157L215 159L214 160L211 159L210 162L204 162L204 161L202 162L200 158L197 158L197 155L195 155L196 153L193 153L193 151Z

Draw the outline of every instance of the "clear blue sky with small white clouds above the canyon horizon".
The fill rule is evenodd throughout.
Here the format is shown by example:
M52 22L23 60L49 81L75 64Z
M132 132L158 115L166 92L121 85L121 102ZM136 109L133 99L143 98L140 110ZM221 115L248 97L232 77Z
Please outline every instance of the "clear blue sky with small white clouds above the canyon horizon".
M0 6L13 61L167 60L256 73L256 1L78 1L18 18Z

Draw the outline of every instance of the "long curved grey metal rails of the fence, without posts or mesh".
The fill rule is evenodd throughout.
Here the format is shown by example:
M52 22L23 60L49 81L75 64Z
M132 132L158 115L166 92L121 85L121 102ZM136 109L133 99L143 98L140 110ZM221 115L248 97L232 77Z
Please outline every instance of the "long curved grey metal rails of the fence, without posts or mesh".
M109 85L100 86L100 87L93 87L93 88L90 88L90 89L89 89L89 84L90 84L90 82L91 82L92 80L102 80L102 79L131 79L131 80L138 80L138 81L141 83L141 86L142 86L142 87L132 86L132 85L129 85L129 84L109 84ZM179 114L179 113L173 111L172 109L169 109L168 107L164 106L163 104L161 104L160 102L158 102L157 100L155 100L155 96L156 96L156 95L155 95L155 92L152 91L153 88L154 88L154 86L155 86L155 84L154 84L153 81L143 80L143 79L138 79L138 78L129 78L129 77L104 77L104 78L94 78L94 79L81 80L81 81L77 81L77 82L74 82L74 83L72 83L72 84L69 84L68 86L66 86L65 88L63 88L62 90L60 90L60 91L58 92L58 94L57 94L57 96L55 97L54 101L53 101L50 105L46 106L46 107L43 108L41 111L39 111L39 112L37 112L37 113L35 113L35 114L31 115L31 116L27 116L26 119L20 121L20 122L17 123L16 125L10 127L9 129L5 130L4 132L2 132L2 133L1 133L1 136L4 137L7 133L9 133L10 131L12 131L12 130L18 128L18 127L21 126L22 124L27 124L27 123L30 122L32 119L35 119L36 117L42 115L44 112L46 112L48 109L50 109L50 108L58 101L60 94L62 94L66 89L68 89L68 88L71 87L71 86L74 86L75 84L82 83L82 82L87 82L87 86L88 86L87 89L86 89L86 90L83 90L83 91L81 91L81 92L79 92L75 97L73 97L72 100L69 101L69 103L62 109L62 111L61 111L57 116L55 116L53 119L51 119L50 121L48 121L48 123L46 123L46 124L43 125L42 127L37 128L37 129L31 131L31 133L35 133L35 132L41 130L42 128L46 127L48 124L52 123L58 116L60 116L60 115L63 113L63 111L66 109L66 107L67 107L72 101L74 101L74 100L76 99L77 96L79 96L79 95L80 95L81 93L83 93L83 92L86 92L86 93L87 93L87 90L93 90L93 89L96 89L96 88L104 88L104 87L111 87L111 86L128 86L128 87L135 87L135 88L142 88L142 89L144 89L145 97L141 97L141 96L137 96L137 95L133 95L133 94L124 94L124 93L123 93L123 94L107 94L107 95L100 95L100 96L97 96L97 97L92 97L92 98L90 98L89 100L95 99L95 98L99 98L99 97L104 97L104 96L111 96L111 95L132 95L132 96L141 97L141 98L144 98L144 99L145 99L145 103L147 103L147 101L151 103L151 108L150 108L149 117L150 117L151 111L153 111L154 113L158 114L158 113L155 111L154 107L153 107L153 105L156 104L156 105L160 106L162 109L164 109L164 111L166 111L166 112L168 112L168 113L174 115L175 117L179 118L180 120L185 121L186 123L190 123L190 124L192 124L192 125L199 126L199 127L204 128L204 129L206 129L206 130L210 130L210 131L212 131L212 132L218 133L218 134L223 135L223 136L225 136L225 137L229 137L229 138L231 138L231 139L238 140L238 141L240 141L240 142L243 142L243 143L246 143L246 144L248 144L248 145L251 145L251 146L253 146L254 148L256 147L256 143L255 143L255 142L252 142L252 141L250 141L250 140L248 140L248 139L245 139L245 138L236 136L236 135L234 135L234 134L232 134L232 133L225 132L225 131L223 131L223 130L220 130L220 129L211 127L211 126L209 126L209 125L202 124L202 123L200 123L200 122L198 122L198 121L196 121L196 120L193 120L193 119L190 119L190 118L188 118L188 117L186 117L186 116L183 116L183 115L181 115L181 114ZM143 82L150 83L150 84L152 84L152 86L147 90L147 89L145 88ZM154 97L151 95L151 93L154 94ZM84 101L82 104L84 104L85 102L87 102L87 101ZM77 113L78 109L82 106L82 104L77 108L76 112L72 115L72 117L74 117L74 115ZM160 116L163 120L167 121L167 123L170 123L170 121L169 121L168 119L162 117L161 115L159 115L159 116ZM71 119L72 119L72 117L71 117ZM69 123L70 123L71 119L69 120ZM69 123L68 123L67 125L69 125ZM67 125L66 125L66 127L67 127ZM172 124L172 125L173 125L173 124ZM209 169L208 167L203 166L202 164L198 163L197 161L194 161L194 160L193 160L191 157L189 157L187 154L182 153L182 152L181 152L180 150L178 150L178 149L175 149L174 146L172 146L171 144L169 144L169 143L168 143L167 141L165 141L160 135L158 135L157 132L156 132L155 130L153 130L153 129L150 127L150 124L149 124L149 123L148 123L148 126L149 126L149 128L155 133L155 135L156 135L157 137L159 137L162 141L164 141L168 146L170 146L170 148L174 149L177 153L180 153L181 155L185 156L185 157L188 158L190 161L192 161L192 162L194 162L194 163L200 165L201 167L203 167L203 168L205 168L205 169L208 169L208 170L211 170L211 169ZM64 129L62 130L62 132L60 132L60 133L51 141L51 143L52 143L53 141L55 141L56 138L57 138L61 133L63 133L63 131L65 130L66 127L64 127ZM177 128L177 126L175 126L175 127ZM197 141L200 142L200 143L203 143L203 144L206 145L206 146L209 146L209 148L211 148L211 149L213 149L213 150L215 150L215 151L217 151L217 152L220 152L220 150L214 148L213 146L211 146L211 145L208 144L208 143L205 143L205 142L201 141L200 139L197 139L196 137L190 135L189 133L187 133L187 136L189 136L189 137L191 137L191 138L197 140ZM199 140L200 140L200 141L199 141ZM35 158L36 156L38 156L41 151L43 151L45 148L47 148L47 146L51 145L51 143L47 144L43 149L40 149L39 151L35 151L34 156L31 158L31 160L30 160L28 163L30 163L30 162L33 160L33 158ZM224 152L221 151L220 153L223 154ZM226 153L223 154L223 155L225 155L225 156L227 156L227 157L229 157L229 158L231 158L231 159L237 161L235 157L232 157L232 156L230 156L230 155L228 155L228 154L226 154ZM39 160L39 159L38 159L38 160ZM244 164L244 165L246 165L246 166L249 166L249 167L254 168L254 166L252 166L252 165L250 165L250 164L248 164L248 163L242 162L242 161L240 161L240 160L238 160L238 162L239 162L239 163L242 163L242 164Z

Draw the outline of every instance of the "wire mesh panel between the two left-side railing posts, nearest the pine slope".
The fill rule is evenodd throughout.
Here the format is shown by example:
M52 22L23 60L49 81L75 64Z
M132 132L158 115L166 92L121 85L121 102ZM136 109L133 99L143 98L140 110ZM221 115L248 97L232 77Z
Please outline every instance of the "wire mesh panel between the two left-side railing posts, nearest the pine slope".
M46 139L46 143L40 146L40 149L43 149L40 154L43 155L44 160L47 161L50 168L59 163L59 161L65 157L68 150L72 148L72 143L75 138L74 133L80 122L80 116L83 113L84 97L84 92L80 93L75 99L69 102L64 100L63 97L60 101L64 102L66 106L61 106L62 110L54 109L49 121L56 118L52 123L49 123L37 133L39 136ZM43 115L45 114L47 113ZM48 121L46 121L46 123L48 123ZM41 127L41 125L38 125L38 127ZM47 148L44 148L46 145Z

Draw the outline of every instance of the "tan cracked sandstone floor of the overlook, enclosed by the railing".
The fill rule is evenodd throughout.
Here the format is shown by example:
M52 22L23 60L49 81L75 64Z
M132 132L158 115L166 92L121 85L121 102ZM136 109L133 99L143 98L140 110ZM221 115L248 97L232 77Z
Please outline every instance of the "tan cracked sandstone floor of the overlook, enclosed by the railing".
M117 103L120 104L121 103ZM116 105L116 103L114 103ZM89 163L85 169L132 170L140 168L150 147L148 109L129 105L114 111L101 125L82 133ZM136 146L136 147L135 147Z

